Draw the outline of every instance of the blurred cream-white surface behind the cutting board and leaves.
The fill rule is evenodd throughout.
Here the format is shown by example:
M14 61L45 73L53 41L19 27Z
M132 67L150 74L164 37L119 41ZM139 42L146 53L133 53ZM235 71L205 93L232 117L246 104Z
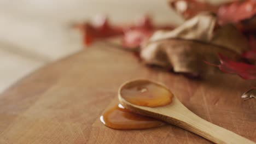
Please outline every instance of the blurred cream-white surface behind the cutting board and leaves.
M0 0L0 92L42 65L82 50L81 37L70 26L99 14L114 23L131 23L143 14L156 23L182 22L166 0Z

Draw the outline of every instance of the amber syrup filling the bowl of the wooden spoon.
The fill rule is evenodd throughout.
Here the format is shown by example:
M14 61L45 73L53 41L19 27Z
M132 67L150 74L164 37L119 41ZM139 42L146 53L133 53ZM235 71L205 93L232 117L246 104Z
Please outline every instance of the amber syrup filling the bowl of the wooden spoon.
M122 97L131 104L148 107L165 106L172 103L173 94L166 87L148 80L126 83L121 89Z

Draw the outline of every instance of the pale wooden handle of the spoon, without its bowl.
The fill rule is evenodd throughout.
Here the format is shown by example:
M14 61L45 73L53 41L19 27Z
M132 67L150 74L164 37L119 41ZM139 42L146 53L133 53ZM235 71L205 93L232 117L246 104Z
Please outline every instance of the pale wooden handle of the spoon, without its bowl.
M214 143L254 143L232 131L212 124L192 112L183 117L182 121L176 124Z

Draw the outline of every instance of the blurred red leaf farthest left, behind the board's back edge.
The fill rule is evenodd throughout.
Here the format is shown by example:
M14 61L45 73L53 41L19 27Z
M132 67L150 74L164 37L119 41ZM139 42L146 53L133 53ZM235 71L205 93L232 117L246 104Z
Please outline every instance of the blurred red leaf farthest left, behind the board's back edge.
M90 45L97 39L106 39L116 35L121 35L124 47L138 47L142 41L148 39L150 35L157 29L173 29L172 25L154 26L152 20L148 16L143 16L135 23L128 26L112 26L109 24L107 17L102 17L94 24L84 23L78 25L84 34L84 44Z

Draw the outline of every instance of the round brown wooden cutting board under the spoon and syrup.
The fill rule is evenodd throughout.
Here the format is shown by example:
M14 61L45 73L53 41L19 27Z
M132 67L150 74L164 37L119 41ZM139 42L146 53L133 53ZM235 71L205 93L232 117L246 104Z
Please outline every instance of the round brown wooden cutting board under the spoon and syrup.
M253 81L226 74L191 80L97 43L35 71L0 95L0 143L210 143L173 125L105 127L101 113L117 103L121 83L135 78L164 83L200 117L256 142L256 99L240 98Z

